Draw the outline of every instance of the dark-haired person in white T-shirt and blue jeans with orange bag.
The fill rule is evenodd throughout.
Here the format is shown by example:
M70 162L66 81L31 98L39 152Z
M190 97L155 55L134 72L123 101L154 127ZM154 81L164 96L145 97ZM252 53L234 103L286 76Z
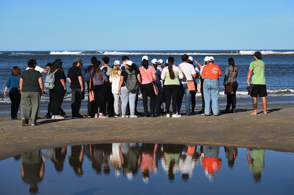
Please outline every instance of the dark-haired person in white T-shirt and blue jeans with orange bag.
M185 95L185 107L186 116L192 116L191 114L191 98L192 94L189 92L187 81L193 81L196 77L196 71L192 64L189 64L189 57L187 54L182 55L183 63L179 64L180 70L183 72L184 78L180 79L180 91L177 98L177 111L180 113L182 107L183 97Z

